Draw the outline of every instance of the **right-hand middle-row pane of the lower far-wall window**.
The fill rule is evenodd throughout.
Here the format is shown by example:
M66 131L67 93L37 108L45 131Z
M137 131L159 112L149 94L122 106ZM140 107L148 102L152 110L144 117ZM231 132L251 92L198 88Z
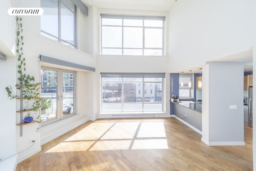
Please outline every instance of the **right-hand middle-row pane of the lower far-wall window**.
M162 102L162 83L145 83L145 102Z

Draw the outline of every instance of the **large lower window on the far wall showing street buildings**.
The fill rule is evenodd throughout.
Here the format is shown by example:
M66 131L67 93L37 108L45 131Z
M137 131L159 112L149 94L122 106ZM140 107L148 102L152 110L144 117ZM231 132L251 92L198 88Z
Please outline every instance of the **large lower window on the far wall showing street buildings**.
M163 111L164 77L162 73L102 73L101 111ZM154 89L150 87L151 84ZM140 90L144 93L140 93Z

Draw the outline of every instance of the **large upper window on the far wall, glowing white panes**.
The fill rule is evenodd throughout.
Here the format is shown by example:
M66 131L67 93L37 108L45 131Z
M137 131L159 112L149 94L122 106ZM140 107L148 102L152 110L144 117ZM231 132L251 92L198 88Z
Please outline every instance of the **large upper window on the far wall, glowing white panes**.
M164 20L101 14L101 54L162 56Z

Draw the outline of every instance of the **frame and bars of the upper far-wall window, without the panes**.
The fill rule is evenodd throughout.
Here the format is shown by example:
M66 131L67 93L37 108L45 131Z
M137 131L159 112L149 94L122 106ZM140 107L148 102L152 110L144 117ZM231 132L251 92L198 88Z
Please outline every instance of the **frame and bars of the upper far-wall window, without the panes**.
M100 54L102 54L102 49L122 49L122 55L124 55L124 49L139 49L142 50L142 56L144 56L144 50L162 50L162 56L164 56L164 21L165 17L163 16L125 16L125 15L108 15L108 14L100 14L101 15L101 29L100 29ZM102 18L113 18L113 19L122 19L122 26L117 25L103 25L102 24ZM137 19L137 20L143 20L143 26L124 26L124 19ZM151 27L151 26L144 26L144 20L162 20L163 25L162 27ZM102 47L102 26L111 26L111 27L122 27L122 48L120 47ZM143 45L142 48L124 48L124 27L130 27L130 28L143 28ZM145 48L145 37L144 32L145 28L160 28L162 29L162 48ZM114 35L113 35L114 36ZM104 54L103 54L104 55Z

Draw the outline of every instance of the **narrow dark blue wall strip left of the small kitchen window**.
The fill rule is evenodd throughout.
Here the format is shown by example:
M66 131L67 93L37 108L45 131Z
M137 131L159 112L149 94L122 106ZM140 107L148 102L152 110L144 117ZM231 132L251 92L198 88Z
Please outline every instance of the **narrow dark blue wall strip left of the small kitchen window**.
M179 96L179 79L180 79L180 74L179 73L171 73L170 74L170 97L172 95L178 95ZM174 115L174 104L170 103L170 115Z

